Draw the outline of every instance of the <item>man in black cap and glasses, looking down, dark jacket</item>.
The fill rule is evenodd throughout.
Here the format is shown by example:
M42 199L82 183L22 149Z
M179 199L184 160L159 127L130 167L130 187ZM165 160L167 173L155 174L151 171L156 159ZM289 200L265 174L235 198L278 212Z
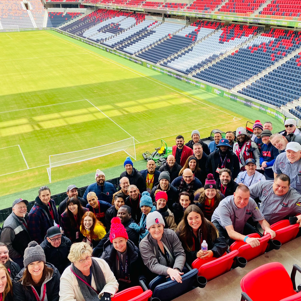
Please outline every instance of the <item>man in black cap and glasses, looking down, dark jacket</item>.
M60 272L71 264L67 256L71 247L71 240L62 235L60 228L53 226L47 230L44 241L40 244L46 256L46 262L52 263Z

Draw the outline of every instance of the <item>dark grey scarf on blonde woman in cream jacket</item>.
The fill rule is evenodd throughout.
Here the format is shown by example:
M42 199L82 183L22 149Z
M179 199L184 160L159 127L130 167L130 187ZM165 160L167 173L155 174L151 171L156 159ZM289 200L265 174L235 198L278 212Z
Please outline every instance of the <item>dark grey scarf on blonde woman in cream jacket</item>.
M102 291L102 289L106 285L106 279L104 278L104 273L102 272L98 262L93 258L91 259L92 259L92 265L90 267L90 271L92 272L96 284L96 291L92 287L85 284L85 282L83 281L85 279L85 276L82 274L81 271L79 271L78 268L75 267L73 263L70 265L70 269L77 278L79 289L82 295L84 296L85 300L99 301L98 294ZM92 280L92 276L91 276L91 280Z

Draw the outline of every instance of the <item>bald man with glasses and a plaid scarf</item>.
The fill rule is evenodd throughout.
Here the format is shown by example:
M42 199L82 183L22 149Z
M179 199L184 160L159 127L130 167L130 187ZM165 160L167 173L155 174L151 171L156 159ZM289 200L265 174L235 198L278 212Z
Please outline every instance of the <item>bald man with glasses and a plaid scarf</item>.
M200 180L194 177L191 169L189 168L184 169L183 175L175 178L171 185L177 188L178 193L187 191L191 195L192 200L194 197L194 191L203 187Z

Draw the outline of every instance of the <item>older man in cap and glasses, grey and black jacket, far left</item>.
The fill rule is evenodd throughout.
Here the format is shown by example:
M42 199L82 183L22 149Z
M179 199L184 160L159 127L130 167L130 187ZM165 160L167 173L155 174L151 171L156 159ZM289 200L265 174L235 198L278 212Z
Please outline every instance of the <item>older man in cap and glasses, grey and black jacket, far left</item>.
M31 241L26 205L28 205L27 200L14 200L12 213L4 221L0 238L0 241L7 245L9 257L21 268L23 267L24 250Z

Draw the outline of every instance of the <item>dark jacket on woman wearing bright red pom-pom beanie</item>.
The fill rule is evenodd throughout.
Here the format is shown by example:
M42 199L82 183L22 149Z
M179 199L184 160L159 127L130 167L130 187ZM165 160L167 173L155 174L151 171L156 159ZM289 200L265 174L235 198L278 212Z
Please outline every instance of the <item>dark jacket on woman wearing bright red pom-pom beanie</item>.
M139 284L139 279L144 278L144 264L140 256L140 252L138 247L134 245L131 240L128 240L126 243L126 255L128 256L128 265L129 265L129 277L131 283L126 283L123 281L119 281L118 290L124 290L128 287L132 287ZM101 258L104 259L107 264L109 265L111 271L113 272L114 276L117 278L117 267L116 267L116 255L117 251L113 247L113 244L108 239L104 243L104 253L102 254ZM120 268L118 266L118 268Z

